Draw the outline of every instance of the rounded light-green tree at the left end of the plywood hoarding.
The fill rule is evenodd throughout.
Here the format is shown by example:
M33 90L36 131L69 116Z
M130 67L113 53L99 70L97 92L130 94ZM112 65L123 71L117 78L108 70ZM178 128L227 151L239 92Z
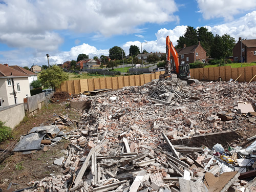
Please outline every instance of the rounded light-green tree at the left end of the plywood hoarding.
M63 72L63 70L57 65L54 65L49 69L42 71L39 76L39 80L42 86L44 86L45 88L48 88L48 87L58 88L61 82L68 79L69 79L68 74Z

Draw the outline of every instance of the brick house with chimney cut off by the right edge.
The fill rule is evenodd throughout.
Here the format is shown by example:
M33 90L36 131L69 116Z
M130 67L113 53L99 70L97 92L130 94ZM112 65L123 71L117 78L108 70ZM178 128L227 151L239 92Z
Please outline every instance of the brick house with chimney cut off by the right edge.
M242 40L242 37L239 37L233 48L233 60L237 62L256 61L256 39Z

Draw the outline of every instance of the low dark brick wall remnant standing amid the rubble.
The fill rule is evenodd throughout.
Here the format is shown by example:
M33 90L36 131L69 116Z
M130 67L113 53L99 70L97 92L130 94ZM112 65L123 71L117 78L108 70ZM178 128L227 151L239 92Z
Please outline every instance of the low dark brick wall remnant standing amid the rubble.
M200 147L205 145L207 147L212 147L217 143L225 145L227 142L241 138L236 132L227 131L221 133L211 133L205 135L199 135L183 139L172 139L173 145L185 145L185 146L195 146Z

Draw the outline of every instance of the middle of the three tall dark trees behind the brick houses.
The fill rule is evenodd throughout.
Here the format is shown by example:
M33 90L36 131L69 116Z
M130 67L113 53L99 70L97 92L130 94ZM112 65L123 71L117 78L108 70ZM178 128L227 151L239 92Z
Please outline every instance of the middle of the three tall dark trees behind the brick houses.
M200 27L198 29L198 40L200 41L201 46L206 51L206 55L210 55L210 46L214 41L214 34L212 34L208 29L205 27Z

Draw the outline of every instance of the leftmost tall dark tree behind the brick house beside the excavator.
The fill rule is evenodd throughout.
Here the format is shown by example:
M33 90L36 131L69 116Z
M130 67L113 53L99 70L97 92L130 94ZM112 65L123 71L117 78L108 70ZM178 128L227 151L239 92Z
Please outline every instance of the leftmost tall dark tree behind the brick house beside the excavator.
M176 48L183 48L184 44L186 46L193 46L198 44L198 36L197 36L197 29L191 26L187 26L186 32L183 36L181 36L177 40L178 44Z

